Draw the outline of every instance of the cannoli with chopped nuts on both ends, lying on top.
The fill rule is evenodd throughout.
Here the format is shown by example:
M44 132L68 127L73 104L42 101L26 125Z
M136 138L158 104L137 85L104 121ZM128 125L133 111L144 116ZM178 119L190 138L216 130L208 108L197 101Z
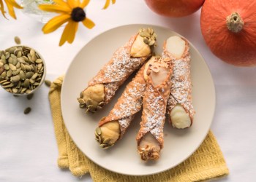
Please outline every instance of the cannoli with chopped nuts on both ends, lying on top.
M159 159L159 152L163 148L163 127L170 94L171 74L172 66L169 58L155 62L148 69L143 113L136 138L138 153L143 160Z

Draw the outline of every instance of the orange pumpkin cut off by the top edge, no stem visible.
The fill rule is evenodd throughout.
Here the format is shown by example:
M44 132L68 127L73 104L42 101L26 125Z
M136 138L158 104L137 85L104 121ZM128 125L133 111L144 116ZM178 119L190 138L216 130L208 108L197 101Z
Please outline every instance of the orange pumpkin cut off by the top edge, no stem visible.
M204 0L145 0L148 7L166 17L184 17L196 12Z

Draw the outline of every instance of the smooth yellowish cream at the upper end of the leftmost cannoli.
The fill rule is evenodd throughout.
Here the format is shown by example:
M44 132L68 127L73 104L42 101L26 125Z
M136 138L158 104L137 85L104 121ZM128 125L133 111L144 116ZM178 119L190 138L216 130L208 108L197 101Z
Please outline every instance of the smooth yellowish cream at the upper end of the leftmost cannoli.
M148 44L145 44L142 36L137 36L132 44L130 55L134 58L145 57L151 53Z

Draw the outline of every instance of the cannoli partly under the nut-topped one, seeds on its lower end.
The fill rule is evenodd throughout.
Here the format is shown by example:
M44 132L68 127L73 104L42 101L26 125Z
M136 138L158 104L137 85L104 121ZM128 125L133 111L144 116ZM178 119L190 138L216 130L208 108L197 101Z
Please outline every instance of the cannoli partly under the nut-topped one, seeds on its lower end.
M99 126L95 130L95 138L102 148L107 149L120 140L135 114L140 111L146 90L146 70L154 60L153 56L140 68L132 81L127 84L110 114L99 121Z

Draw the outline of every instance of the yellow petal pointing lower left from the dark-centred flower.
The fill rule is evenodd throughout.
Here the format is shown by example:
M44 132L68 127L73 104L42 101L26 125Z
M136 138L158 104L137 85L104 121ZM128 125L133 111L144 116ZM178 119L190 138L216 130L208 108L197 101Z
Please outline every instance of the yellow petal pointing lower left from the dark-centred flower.
M69 19L71 20L70 15L59 15L53 17L43 26L42 31L44 33L56 31L57 28L59 28L63 23L69 21Z

